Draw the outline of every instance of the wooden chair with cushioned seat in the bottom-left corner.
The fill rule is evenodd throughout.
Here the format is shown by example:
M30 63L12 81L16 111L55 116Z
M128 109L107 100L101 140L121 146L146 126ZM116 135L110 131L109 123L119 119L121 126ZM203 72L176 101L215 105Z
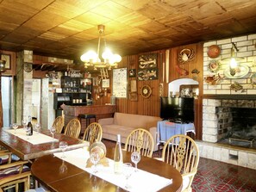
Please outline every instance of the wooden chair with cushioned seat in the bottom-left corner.
M24 190L29 189L31 172L28 161L11 162L11 152L0 152L0 158L7 161L0 164L0 191L15 188L19 191L19 183L24 183Z

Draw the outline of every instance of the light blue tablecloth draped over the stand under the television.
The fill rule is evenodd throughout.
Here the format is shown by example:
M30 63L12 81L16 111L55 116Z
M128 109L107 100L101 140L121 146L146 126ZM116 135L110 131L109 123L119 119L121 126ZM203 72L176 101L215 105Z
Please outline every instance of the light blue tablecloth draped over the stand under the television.
M165 142L175 134L186 134L195 132L194 123L174 123L170 121L158 121L158 138L157 143Z

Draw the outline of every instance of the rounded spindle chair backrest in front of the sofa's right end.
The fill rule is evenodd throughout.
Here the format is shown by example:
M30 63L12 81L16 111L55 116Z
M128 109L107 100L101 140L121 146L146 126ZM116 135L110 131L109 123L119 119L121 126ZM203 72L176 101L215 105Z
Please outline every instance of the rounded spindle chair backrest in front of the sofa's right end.
M129 133L124 150L128 152L140 152L140 155L152 158L153 137L146 129L137 128Z

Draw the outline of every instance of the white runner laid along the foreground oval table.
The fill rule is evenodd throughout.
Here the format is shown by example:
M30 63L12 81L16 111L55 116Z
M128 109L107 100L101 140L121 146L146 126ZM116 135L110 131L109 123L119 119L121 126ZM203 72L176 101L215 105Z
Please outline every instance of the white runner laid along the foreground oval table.
M54 156L61 158L62 152L54 153ZM90 158L89 152L80 148L77 150L72 150L65 152L66 158L63 158L66 162L76 165L78 168L85 170L91 174L93 174L92 168L86 168L87 159ZM97 177L102 178L109 183L113 183L116 186L125 189L126 179L121 174L114 173L114 161L109 159L109 166L103 166L101 164L97 165L97 173L94 174ZM140 167L140 163L138 164ZM134 172L132 176L128 179L128 191L132 192L153 192L158 191L159 189L164 188L165 186L172 184L172 179L167 179L165 177L159 177L158 175L149 173L144 170L138 170Z

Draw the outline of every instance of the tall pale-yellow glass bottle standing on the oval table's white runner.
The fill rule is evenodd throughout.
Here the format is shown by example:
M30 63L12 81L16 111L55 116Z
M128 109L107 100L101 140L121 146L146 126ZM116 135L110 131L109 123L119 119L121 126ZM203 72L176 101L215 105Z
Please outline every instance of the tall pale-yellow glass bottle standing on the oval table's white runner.
M122 173L122 164L123 164L123 158L122 158L122 147L121 147L121 135L117 134L116 148L115 148L115 154L114 154L114 172L116 174Z

